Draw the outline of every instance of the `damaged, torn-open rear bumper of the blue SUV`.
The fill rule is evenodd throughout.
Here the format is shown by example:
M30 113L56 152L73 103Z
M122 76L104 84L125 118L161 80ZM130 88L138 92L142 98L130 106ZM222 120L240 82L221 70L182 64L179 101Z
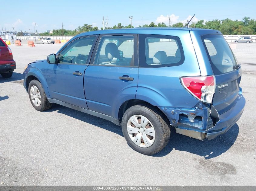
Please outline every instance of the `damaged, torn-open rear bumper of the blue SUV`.
M176 132L200 140L213 139L228 131L241 117L245 99L239 95L230 110L218 115L211 104L198 103L194 108L159 107Z

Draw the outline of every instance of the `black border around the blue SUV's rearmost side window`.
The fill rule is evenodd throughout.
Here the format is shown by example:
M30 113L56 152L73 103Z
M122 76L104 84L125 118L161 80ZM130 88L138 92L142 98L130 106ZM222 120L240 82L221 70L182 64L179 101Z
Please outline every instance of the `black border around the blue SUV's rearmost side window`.
M176 40L178 43L178 46L181 51L181 60L178 63L170 63L170 64L159 64L159 65L148 65L146 63L146 50L145 50L145 39L147 37L152 37L152 38L165 38L165 39L173 39ZM140 51L142 53L140 54ZM138 35L138 53L140 54L139 57L139 68L163 68L163 67L172 67L172 66L178 66L184 63L185 61L185 55L184 55L184 50L182 47L182 43L179 37L177 36L172 36L172 35L161 35L161 34L139 34Z

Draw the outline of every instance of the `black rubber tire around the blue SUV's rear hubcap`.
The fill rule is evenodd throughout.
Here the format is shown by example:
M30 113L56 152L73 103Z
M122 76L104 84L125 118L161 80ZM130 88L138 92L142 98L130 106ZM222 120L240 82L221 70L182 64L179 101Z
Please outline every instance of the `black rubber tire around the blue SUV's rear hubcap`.
M151 146L147 148L140 147L129 137L127 132L127 123L133 115L145 116L154 126L155 141ZM125 111L122 118L122 131L127 144L135 151L146 155L153 155L161 151L165 148L170 138L170 126L167 117L161 113L160 110L148 104L135 105Z

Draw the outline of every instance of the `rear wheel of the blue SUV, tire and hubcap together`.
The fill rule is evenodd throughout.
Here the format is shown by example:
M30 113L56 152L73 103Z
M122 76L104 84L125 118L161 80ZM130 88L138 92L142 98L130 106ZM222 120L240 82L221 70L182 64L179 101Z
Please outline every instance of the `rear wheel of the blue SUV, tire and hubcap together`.
M122 131L128 145L135 151L153 155L161 151L170 138L170 127L166 116L157 108L135 105L125 111Z

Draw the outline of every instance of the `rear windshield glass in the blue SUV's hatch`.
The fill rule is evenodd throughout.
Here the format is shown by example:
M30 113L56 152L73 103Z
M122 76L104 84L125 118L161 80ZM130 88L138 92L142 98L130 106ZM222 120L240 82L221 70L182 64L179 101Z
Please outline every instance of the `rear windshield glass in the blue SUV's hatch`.
M234 70L237 65L235 56L222 35L201 36L204 48L208 54L214 75L224 74Z

